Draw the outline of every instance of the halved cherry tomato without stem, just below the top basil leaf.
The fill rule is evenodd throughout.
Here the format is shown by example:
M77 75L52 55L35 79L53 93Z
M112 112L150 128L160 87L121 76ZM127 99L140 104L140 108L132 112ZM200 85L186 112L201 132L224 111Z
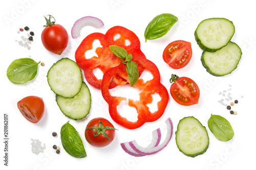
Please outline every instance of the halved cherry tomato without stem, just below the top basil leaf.
M174 69L185 67L191 57L191 43L183 40L169 43L163 51L164 62Z

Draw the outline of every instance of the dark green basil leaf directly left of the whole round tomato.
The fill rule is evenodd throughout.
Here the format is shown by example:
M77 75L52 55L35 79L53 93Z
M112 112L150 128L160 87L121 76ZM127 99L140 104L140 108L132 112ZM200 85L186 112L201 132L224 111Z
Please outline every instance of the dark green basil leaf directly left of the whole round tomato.
M75 158L84 158L87 156L78 132L70 125L69 121L61 127L60 138L62 146L68 154Z

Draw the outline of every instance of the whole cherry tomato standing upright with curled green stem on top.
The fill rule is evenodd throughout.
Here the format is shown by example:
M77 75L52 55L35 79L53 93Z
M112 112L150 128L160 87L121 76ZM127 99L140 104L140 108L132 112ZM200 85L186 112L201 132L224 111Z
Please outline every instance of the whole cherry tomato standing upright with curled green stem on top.
M54 21L51 22L51 18ZM45 48L54 53L60 55L67 47L69 36L64 27L55 23L55 18L49 15L49 19L45 17L47 25L42 30L41 40Z

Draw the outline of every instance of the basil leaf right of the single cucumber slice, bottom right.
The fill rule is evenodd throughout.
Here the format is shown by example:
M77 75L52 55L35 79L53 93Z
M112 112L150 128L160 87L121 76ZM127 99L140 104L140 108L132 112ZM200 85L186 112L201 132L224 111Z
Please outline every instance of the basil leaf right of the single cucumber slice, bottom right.
M211 114L208 120L208 127L215 137L221 141L229 141L234 136L230 123L220 115Z

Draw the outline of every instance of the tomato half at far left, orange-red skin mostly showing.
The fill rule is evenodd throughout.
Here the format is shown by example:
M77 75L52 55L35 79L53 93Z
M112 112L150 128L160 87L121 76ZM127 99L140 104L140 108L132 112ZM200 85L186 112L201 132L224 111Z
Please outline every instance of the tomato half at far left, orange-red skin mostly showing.
M44 115L45 104L42 98L30 95L17 103L19 111L32 123L37 123Z

